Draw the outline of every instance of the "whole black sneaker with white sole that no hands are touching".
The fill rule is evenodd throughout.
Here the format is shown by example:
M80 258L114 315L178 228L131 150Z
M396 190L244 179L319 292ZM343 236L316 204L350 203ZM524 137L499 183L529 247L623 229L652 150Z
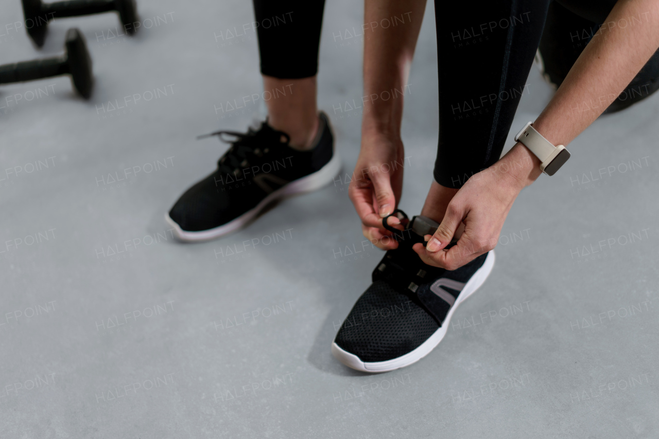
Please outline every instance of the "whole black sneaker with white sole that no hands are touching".
M218 131L208 136L232 136L231 147L215 172L181 195L165 220L183 241L204 241L231 233L256 217L275 199L325 186L339 173L341 161L325 113L320 113L314 147L299 151L289 136L268 122L246 133ZM228 142L227 142L228 143Z

